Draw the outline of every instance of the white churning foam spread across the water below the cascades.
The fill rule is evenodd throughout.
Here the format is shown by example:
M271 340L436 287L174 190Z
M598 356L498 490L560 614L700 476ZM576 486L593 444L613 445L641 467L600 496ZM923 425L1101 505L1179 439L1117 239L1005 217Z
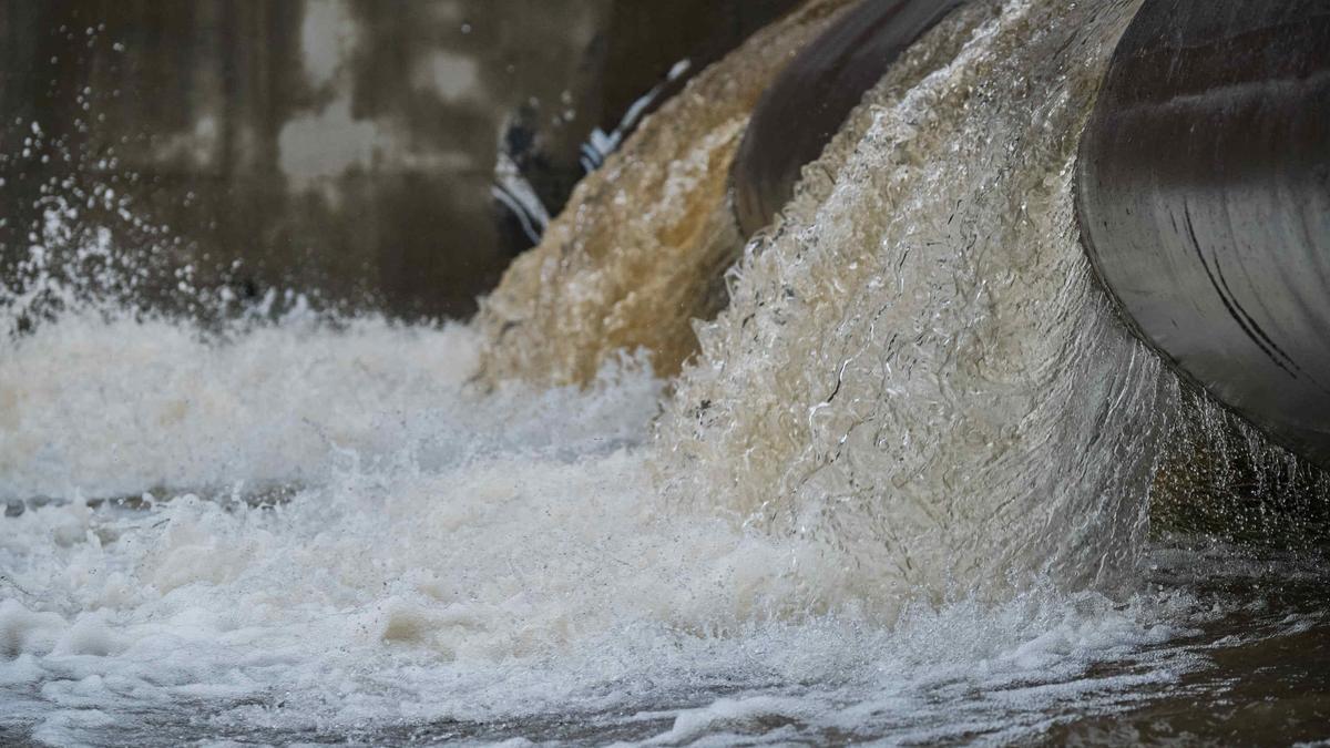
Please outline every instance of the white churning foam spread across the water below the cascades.
M21 445L47 455L7 468L7 491L68 502L4 519L0 725L53 744L392 741L551 715L662 743L898 720L962 735L1116 691L1023 689L1168 639L1192 610L1032 590L883 622L826 547L665 507L648 459L661 383L632 361L585 391L477 395L463 327L203 339L76 315L0 363ZM51 367L77 357L97 363ZM78 406L88 393L105 399ZM177 398L184 417L148 417ZM211 401L237 405L193 414ZM226 500L297 479L275 504ZM137 510L81 499L134 484L181 488ZM958 723L938 700L970 689L1007 701Z

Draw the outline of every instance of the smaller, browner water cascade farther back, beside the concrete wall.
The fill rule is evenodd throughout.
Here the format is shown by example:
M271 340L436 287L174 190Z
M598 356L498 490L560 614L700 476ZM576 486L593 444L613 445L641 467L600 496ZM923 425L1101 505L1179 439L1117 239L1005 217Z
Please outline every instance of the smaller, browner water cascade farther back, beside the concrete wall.
M587 383L622 349L673 375L692 321L724 306L720 278L743 244L726 189L749 114L790 56L850 5L817 0L754 35L575 190L540 245L483 303L484 377Z

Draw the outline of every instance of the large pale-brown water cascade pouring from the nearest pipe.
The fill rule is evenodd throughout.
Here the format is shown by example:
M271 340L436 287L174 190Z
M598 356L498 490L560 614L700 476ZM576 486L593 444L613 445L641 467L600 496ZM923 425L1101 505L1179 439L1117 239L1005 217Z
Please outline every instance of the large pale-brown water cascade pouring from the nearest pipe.
M1071 181L1133 9L967 8L892 68L701 333L661 427L677 500L829 543L883 604L1130 571L1176 386Z

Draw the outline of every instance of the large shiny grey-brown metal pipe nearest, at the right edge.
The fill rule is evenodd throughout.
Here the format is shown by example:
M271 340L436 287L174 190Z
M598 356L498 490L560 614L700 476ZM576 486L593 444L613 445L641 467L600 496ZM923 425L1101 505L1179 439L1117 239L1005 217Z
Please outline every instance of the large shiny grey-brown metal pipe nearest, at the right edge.
M1076 186L1136 333L1330 467L1330 0L1146 0Z

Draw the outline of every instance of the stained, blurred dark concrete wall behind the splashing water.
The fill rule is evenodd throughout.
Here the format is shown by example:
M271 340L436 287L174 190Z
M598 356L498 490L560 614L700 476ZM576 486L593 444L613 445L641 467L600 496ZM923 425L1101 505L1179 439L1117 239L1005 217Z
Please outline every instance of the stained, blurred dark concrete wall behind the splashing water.
M113 180L202 282L463 315L525 241L489 196L505 122L535 132L557 208L593 126L791 5L0 0L0 258L51 176ZM47 164L21 157L33 121Z

